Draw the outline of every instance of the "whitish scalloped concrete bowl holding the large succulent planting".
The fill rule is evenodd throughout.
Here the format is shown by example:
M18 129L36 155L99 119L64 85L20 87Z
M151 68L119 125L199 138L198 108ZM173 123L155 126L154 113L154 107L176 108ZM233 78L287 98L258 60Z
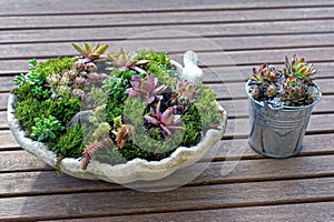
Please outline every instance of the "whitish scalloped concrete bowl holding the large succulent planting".
M16 95L10 94L8 100L8 124L18 141L18 143L28 152L32 153L49 165L56 168L57 155L41 142L37 142L27 137L27 133L21 129L19 121L14 117L13 104ZM104 180L119 184L130 183L138 180L153 181L163 179L178 169L188 167L200 160L207 151L220 140L225 132L227 113L220 107L222 122L217 129L209 129L203 140L195 147L179 147L170 157L160 161L147 161L143 159L134 159L124 164L110 165L91 161L87 170L81 169L79 159L65 158L60 162L63 173L75 178L89 180Z

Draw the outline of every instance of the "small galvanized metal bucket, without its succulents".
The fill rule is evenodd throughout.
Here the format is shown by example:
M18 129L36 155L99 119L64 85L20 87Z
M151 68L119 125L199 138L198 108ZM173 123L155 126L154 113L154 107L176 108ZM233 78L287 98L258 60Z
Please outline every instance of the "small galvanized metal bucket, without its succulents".
M252 149L268 158L289 158L301 152L312 109L322 97L318 87L315 87L318 91L315 101L297 108L273 109L247 93L250 127L248 142Z

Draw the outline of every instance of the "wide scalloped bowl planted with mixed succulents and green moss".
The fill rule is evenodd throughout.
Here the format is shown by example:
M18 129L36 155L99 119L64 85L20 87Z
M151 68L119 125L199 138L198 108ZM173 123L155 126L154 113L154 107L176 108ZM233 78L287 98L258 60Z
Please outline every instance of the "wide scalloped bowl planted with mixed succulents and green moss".
M80 57L30 61L8 102L14 138L48 164L82 179L157 180L223 137L227 114L189 67L167 53L72 46Z

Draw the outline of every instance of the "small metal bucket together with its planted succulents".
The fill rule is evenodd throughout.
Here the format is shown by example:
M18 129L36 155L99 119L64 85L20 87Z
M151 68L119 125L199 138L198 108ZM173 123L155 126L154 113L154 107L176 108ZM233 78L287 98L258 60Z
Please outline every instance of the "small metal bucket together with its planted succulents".
M246 83L249 100L249 144L269 158L297 154L313 107L321 100L313 82L316 70L303 57L285 57L285 68L262 64Z

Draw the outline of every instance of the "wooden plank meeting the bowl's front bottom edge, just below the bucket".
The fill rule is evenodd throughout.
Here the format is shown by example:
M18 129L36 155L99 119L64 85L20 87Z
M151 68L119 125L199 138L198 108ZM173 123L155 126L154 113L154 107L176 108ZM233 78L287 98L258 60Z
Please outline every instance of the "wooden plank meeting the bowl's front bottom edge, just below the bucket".
M199 162L191 168L178 170L167 180L139 182L131 188L156 188L177 184L189 178L188 185L263 182L272 180L305 179L334 175L334 155L303 157L285 160L242 160ZM26 167L27 168L27 167ZM198 169L206 169L199 176ZM249 171L252 169L252 171ZM193 176L193 178L191 178ZM196 179L195 179L196 178ZM0 174L0 196L40 195L88 191L125 190L121 185L101 181L80 180L55 171L12 172ZM190 180L194 179L194 180ZM187 182L187 181L185 181Z

